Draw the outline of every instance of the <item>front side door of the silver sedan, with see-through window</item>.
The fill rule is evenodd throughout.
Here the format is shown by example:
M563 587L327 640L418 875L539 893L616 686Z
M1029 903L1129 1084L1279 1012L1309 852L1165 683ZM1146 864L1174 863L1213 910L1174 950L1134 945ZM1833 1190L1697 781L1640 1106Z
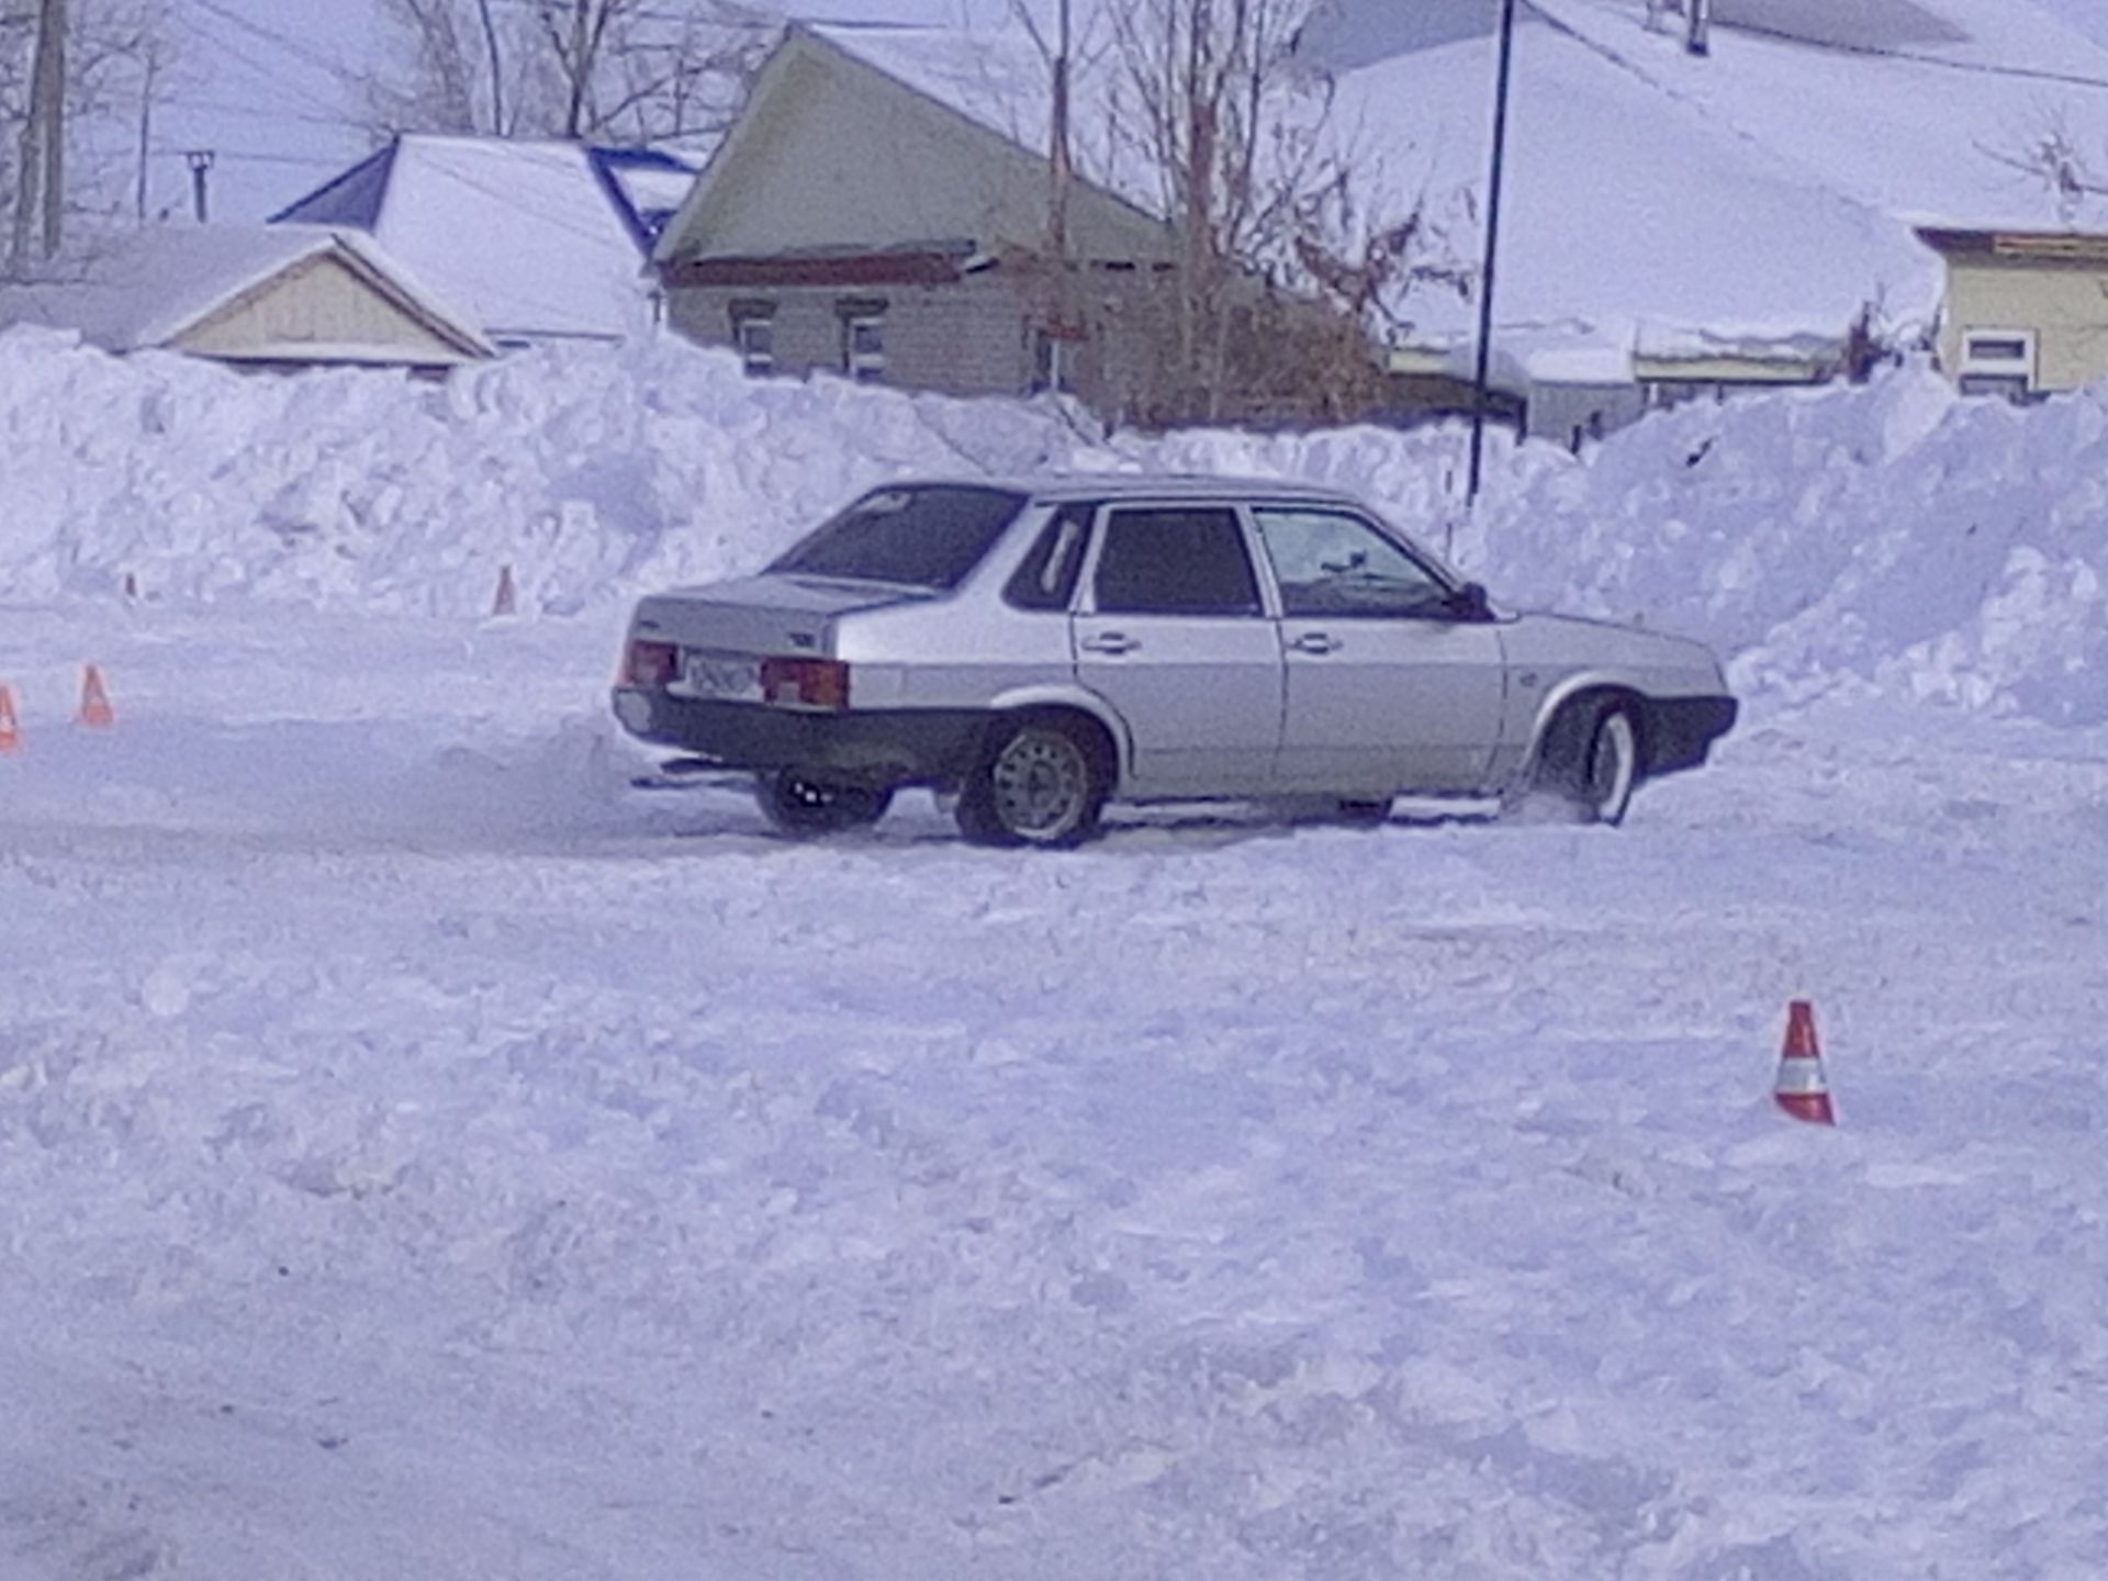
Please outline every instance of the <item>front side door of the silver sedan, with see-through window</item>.
M1282 790L1486 782L1507 691L1499 626L1366 516L1254 506L1282 609Z

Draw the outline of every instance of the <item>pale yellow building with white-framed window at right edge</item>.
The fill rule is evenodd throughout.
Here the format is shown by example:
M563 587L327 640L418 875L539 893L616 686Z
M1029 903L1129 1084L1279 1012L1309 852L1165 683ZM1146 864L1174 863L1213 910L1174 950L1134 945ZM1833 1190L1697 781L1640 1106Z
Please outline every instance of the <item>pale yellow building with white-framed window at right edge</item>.
M2108 236L1918 234L1948 266L1937 354L1963 394L2024 401L2108 379Z

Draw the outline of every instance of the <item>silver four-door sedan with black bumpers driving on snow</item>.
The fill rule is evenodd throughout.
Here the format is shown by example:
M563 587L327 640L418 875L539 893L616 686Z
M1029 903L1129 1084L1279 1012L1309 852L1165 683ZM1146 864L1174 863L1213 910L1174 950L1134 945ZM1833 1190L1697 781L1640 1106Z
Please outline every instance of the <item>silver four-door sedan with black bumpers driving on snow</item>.
M1511 613L1349 495L1162 476L875 489L753 578L643 599L616 717L784 828L957 797L1073 845L1109 801L1547 797L1615 824L1735 721L1657 632Z

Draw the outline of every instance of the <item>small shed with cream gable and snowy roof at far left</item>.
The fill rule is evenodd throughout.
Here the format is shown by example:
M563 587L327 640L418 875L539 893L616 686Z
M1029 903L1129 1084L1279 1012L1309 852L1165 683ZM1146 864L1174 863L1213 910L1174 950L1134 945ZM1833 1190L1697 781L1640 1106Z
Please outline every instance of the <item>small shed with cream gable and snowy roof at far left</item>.
M0 287L0 327L242 369L443 373L495 348L369 238L316 226L158 226Z

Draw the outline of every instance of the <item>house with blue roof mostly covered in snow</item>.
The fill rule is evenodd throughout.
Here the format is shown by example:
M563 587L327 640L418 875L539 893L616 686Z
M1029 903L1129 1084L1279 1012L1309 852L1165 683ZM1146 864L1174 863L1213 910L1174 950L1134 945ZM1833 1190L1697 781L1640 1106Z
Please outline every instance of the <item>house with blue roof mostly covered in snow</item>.
M645 259L696 164L660 150L405 133L272 223L360 230L500 348L649 331Z

